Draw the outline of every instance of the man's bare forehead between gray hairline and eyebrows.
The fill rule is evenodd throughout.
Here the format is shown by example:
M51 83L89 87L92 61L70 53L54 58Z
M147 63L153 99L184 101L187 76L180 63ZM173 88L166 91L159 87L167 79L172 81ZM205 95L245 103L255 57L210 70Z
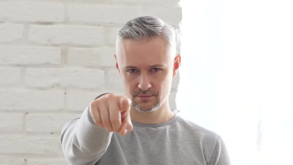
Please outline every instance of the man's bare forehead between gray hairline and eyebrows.
M171 58L166 42L159 37L140 42L125 39L119 56L120 65L133 66L167 64Z

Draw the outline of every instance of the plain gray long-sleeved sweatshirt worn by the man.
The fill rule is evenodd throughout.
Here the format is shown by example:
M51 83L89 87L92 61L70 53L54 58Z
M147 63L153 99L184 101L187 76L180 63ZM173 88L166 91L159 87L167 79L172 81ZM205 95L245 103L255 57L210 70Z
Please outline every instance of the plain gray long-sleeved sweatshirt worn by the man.
M160 124L133 122L133 131L121 136L96 126L89 107L62 130L70 165L230 165L218 134L178 115Z

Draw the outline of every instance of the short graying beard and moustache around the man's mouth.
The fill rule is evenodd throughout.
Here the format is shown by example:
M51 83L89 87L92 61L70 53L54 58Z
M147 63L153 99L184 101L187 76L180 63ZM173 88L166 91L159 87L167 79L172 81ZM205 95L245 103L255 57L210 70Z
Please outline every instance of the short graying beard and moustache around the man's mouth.
M140 94L147 94L147 95L152 95L155 97L155 101L151 104L151 105L141 105L139 103L137 103L134 98L137 96L137 95L140 95ZM162 105L162 102L160 102L158 100L158 92L157 91L152 91L152 90L142 90L140 89L139 91L134 91L131 93L132 95L132 106L140 111L140 112L152 112L152 111L155 111L157 110L159 107L161 107ZM148 100L146 101L143 101L143 102L147 102Z

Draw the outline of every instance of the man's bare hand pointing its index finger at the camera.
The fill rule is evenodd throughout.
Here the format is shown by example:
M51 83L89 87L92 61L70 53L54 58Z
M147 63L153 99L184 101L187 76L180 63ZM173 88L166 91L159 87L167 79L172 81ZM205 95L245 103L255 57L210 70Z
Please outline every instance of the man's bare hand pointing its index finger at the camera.
M91 102L90 114L94 123L109 132L130 133L133 125L130 118L131 100L125 95L105 94Z

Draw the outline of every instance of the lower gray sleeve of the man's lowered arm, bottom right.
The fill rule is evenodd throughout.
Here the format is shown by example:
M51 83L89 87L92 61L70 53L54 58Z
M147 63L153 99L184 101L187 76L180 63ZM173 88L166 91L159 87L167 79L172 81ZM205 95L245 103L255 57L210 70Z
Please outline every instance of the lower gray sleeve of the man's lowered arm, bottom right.
M213 155L208 165L231 165L227 149L220 136L216 141Z

